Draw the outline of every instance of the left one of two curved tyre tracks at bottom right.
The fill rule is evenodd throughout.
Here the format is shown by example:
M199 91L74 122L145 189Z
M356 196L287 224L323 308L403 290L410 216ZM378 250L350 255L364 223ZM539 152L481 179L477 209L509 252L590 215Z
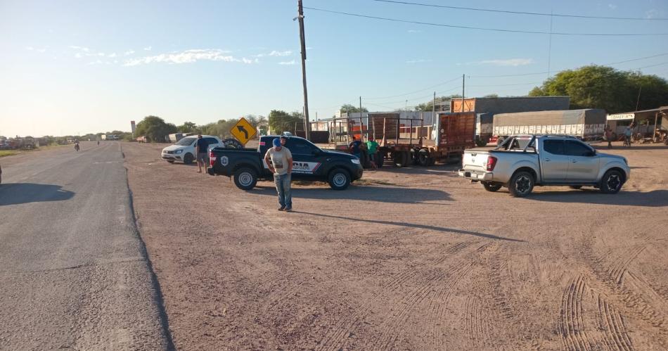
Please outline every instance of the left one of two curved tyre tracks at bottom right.
M586 284L582 276L571 280L565 288L559 313L562 342L567 350L591 350L591 339L584 331L582 298Z

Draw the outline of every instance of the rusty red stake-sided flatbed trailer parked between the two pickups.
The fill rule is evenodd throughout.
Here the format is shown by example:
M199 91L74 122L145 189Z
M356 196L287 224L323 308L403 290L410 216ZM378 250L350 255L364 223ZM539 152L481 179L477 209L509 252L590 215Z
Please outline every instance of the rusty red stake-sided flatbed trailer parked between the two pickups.
M378 167L385 160L406 167L461 158L465 148L475 146L475 113L437 113L432 120L432 135L429 135L422 115L368 113L348 117L344 114L330 122L330 147L348 152L355 139L367 141L373 136L379 143L376 160L383 160Z

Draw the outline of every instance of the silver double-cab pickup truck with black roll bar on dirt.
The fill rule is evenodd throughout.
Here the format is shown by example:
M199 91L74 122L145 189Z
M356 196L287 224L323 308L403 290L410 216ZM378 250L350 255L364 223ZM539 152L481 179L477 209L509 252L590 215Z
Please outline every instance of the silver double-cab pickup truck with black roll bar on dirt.
M512 196L522 197L543 185L617 193L631 169L626 158L598 153L572 136L518 135L493 150L466 150L459 176L480 181L487 191L506 186Z

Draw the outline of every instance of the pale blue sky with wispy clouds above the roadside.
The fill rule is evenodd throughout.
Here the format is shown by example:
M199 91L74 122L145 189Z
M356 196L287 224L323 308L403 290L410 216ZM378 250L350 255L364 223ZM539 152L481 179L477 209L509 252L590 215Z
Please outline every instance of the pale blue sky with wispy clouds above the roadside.
M509 11L665 18L668 1L437 1ZM304 0L304 6L386 18L549 32L548 16ZM0 0L0 135L129 130L158 115L177 125L272 109L301 110L296 0ZM548 35L488 32L304 10L311 118L343 103L416 105L433 91L523 95L547 73ZM553 18L553 32L668 33L664 20ZM551 71L668 53L668 36L552 36ZM619 63L668 77L668 55ZM460 77L460 79L456 79ZM452 80L456 79L456 80ZM442 82L446 84L435 86ZM510 85L515 84L515 85ZM424 90L423 90L424 89ZM415 94L405 94L418 91ZM394 96L391 98L379 98ZM409 101L406 103L406 99ZM372 105L373 103L373 105Z

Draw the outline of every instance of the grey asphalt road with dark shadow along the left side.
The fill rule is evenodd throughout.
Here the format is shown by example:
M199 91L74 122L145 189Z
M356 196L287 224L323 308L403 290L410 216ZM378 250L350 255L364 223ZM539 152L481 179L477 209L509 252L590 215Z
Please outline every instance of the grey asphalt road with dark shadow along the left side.
M172 348L122 147L0 159L0 350Z

